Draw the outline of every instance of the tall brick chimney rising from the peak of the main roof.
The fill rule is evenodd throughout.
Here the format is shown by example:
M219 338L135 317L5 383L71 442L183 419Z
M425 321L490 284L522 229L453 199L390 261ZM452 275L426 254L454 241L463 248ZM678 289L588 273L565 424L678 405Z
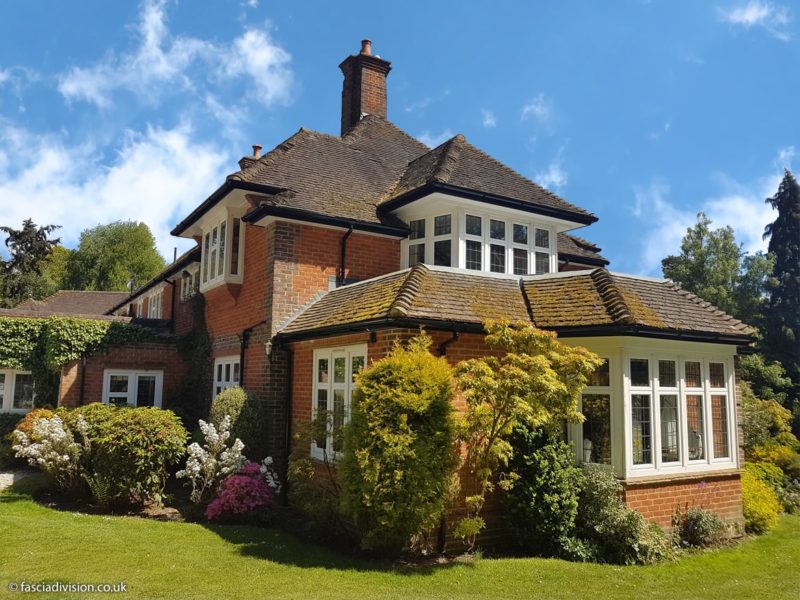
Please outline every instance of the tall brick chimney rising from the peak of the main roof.
M342 135L364 115L386 117L386 76L391 63L372 55L372 42L361 41L361 51L348 56L339 68L344 73L342 86Z

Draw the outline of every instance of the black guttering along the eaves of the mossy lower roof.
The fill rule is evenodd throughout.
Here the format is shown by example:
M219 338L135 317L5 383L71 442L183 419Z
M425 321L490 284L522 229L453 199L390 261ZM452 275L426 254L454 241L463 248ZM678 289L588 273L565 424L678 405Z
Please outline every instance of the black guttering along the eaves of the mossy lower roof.
M406 328L417 329L425 328L435 331L451 331L460 333L486 333L486 329L481 323L440 321L437 319L417 319L413 317L392 318L383 317L360 323L347 323L342 325L330 325L298 331L296 333L278 333L275 341L287 343L301 340L309 340L336 335L346 335L357 332L374 331L375 329L386 328ZM684 340L690 342L709 342L715 344L734 344L737 346L746 345L753 341L751 336L741 334L721 334L703 331L686 330L664 330L643 327L637 325L597 325L585 327L552 327L546 328L558 333L560 337L601 337L601 336L635 336L668 340Z

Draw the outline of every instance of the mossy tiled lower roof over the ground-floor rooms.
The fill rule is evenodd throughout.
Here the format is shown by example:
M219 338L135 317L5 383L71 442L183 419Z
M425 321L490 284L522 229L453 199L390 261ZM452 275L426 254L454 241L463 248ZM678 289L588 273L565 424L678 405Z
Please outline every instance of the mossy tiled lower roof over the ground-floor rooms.
M666 280L591 271L539 276L476 275L417 265L322 296L281 331L313 334L392 319L480 325L505 319L543 329L637 331L744 343L750 328Z

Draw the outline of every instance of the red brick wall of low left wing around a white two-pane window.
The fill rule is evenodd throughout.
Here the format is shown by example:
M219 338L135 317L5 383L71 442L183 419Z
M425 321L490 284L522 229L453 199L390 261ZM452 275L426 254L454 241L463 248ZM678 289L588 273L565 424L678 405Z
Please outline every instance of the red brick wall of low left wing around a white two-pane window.
M81 404L81 381L83 380L83 404L100 402L103 398L103 372L106 369L160 370L164 372L164 398L180 387L186 365L172 341L149 342L116 346L102 354L86 359L86 364L76 360L61 368L58 404L79 406ZM84 375L85 372L85 375Z

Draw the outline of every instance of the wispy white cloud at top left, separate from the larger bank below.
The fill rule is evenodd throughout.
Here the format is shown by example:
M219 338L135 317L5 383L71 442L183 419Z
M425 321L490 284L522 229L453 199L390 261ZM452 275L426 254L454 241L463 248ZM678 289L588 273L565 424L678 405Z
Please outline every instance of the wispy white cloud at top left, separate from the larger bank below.
M138 46L133 51L73 67L59 78L61 94L69 101L109 108L118 90L157 103L165 93L193 93L208 78L247 77L252 79L251 97L264 105L290 98L291 57L266 30L249 28L231 44L172 36L164 0L146 0L134 30Z

